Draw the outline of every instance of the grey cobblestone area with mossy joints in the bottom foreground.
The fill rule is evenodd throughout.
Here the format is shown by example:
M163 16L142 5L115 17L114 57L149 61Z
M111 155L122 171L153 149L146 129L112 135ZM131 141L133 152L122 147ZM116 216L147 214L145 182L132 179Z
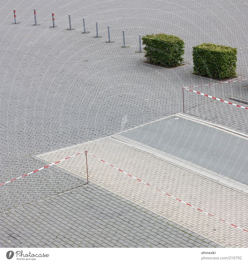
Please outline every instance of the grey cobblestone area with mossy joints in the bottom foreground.
M5 211L1 225L4 247L220 247L92 183Z

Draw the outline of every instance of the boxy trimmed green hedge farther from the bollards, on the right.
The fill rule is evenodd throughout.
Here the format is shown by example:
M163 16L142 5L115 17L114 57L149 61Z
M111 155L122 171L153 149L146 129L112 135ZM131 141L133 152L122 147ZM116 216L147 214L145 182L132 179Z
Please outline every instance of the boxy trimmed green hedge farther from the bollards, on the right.
M237 49L203 43L193 47L194 72L210 78L232 78L236 75Z

